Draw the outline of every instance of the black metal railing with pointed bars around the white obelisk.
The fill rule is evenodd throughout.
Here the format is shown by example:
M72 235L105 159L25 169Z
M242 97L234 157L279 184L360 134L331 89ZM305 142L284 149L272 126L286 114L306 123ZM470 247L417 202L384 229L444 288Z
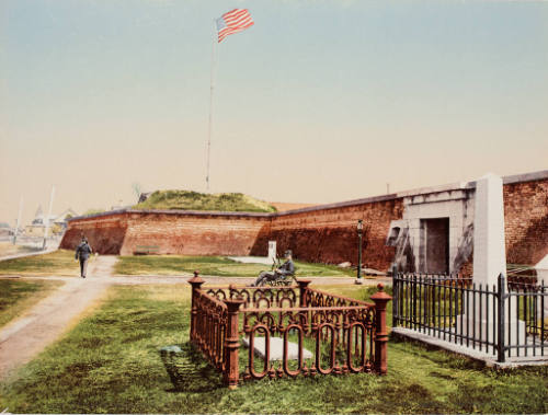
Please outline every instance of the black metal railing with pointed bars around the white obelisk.
M457 275L402 274L392 268L392 326L506 357L548 357L548 286L476 284Z

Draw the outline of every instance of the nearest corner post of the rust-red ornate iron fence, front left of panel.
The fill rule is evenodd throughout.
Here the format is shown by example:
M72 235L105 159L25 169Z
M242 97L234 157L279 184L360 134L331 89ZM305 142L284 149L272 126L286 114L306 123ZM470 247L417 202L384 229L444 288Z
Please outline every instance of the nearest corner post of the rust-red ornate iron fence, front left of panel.
M225 300L228 308L227 332L225 335L225 370L222 380L228 389L238 388L238 377L240 369L238 366L238 349L240 348L240 338L238 335L238 310L243 304L241 297Z

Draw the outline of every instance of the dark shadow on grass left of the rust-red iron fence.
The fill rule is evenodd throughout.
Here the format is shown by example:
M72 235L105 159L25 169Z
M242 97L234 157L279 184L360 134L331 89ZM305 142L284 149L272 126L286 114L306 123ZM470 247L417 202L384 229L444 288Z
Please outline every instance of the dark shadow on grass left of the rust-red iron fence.
M181 351L161 351L163 366L173 384L167 392L210 392L222 388L220 373L191 343L181 345Z

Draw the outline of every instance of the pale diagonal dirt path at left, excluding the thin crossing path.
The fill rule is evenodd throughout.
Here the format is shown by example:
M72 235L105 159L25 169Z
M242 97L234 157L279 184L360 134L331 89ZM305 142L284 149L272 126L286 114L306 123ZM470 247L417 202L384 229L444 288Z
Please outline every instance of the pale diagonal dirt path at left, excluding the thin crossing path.
M90 263L88 278L58 278L65 280L59 289L0 330L0 379L78 322L78 316L112 284L110 276L116 261L115 256L99 256Z

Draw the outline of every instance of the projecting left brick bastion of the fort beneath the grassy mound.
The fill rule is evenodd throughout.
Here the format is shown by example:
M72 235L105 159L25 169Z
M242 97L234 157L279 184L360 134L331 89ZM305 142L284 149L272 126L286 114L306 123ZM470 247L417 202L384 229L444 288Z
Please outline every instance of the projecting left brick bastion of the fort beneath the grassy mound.
M76 249L85 234L101 254L155 246L158 254L249 255L269 226L267 215L129 210L70 220L60 247Z

